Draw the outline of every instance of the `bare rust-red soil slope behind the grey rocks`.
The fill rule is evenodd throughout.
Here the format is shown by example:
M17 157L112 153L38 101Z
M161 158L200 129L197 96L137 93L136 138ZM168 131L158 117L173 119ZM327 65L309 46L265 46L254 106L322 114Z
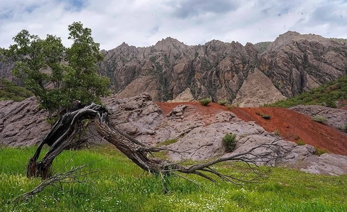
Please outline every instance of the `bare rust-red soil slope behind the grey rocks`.
M224 106L210 103L208 106L202 106L199 102L185 103L157 103L164 114L171 111L172 108L180 104L193 105L196 112L203 114L214 114L220 110L228 111ZM325 148L329 152L347 155L347 134L341 133L329 125L320 124L311 120L310 117L278 107L256 107L240 108L233 107L229 111L245 121L255 121L268 132L279 130L282 137L291 135L288 140L294 141L299 136L305 143ZM266 120L256 113L270 115L271 119Z

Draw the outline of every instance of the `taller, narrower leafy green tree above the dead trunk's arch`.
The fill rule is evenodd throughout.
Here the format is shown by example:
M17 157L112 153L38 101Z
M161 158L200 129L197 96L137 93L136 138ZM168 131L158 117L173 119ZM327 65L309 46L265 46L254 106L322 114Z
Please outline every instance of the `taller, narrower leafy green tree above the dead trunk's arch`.
M83 28L81 22L69 25L69 39L73 44L66 50L66 60L69 63L64 74L66 105L74 100L82 104L90 102L101 103L100 96L109 94L108 77L101 77L97 63L103 60L100 44L95 43L90 28Z

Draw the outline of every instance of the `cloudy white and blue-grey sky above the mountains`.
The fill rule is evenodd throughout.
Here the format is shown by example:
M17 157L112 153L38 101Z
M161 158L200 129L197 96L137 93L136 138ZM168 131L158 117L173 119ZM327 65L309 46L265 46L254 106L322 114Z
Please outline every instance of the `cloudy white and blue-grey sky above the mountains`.
M1 0L0 47L21 29L60 36L82 21L101 49L150 46L166 37L188 45L212 39L245 45L288 30L347 38L347 0Z

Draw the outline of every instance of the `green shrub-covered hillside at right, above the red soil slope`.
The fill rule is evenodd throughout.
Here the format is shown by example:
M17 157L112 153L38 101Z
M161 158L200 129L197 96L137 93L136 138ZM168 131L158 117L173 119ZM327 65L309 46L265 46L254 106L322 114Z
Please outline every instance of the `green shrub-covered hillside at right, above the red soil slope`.
M265 107L294 107L297 105L323 105L336 108L335 101L347 99L347 76L340 77L337 81L330 81L303 92L295 97L279 100L271 104L265 104Z

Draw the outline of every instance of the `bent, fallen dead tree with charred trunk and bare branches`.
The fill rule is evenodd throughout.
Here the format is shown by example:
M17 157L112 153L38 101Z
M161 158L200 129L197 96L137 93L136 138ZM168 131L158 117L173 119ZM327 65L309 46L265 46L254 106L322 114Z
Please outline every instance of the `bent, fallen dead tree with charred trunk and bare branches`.
M257 175L251 181L260 182L259 180L262 178L261 174L257 173L251 165L257 165L259 163L266 164L271 161L282 159L290 153L290 150L287 150L283 145L279 144L281 139L278 138L272 143L258 145L243 153L231 154L229 157L218 158L202 164L183 166L153 155L153 152L163 150L177 151L150 147L117 129L109 120L108 110L105 107L96 104L87 106L79 105L73 111L67 112L62 116L39 145L34 156L29 161L27 177L42 177L43 179L50 177L49 168L54 158L63 150L70 149L75 145L75 143L71 141L78 132L81 121L85 119L93 120L95 129L99 135L109 143L115 145L118 150L124 153L125 156L131 159L144 171L153 174L175 174L187 180L189 179L186 176L179 173L198 175L212 182L215 182L212 176L217 176L235 184L249 182L248 180L244 181L242 177L236 178L234 176L224 175L212 168L212 165L223 161L243 161L248 164L249 168ZM37 161L44 144L48 144L50 149L41 161ZM206 175L207 173L208 175Z

